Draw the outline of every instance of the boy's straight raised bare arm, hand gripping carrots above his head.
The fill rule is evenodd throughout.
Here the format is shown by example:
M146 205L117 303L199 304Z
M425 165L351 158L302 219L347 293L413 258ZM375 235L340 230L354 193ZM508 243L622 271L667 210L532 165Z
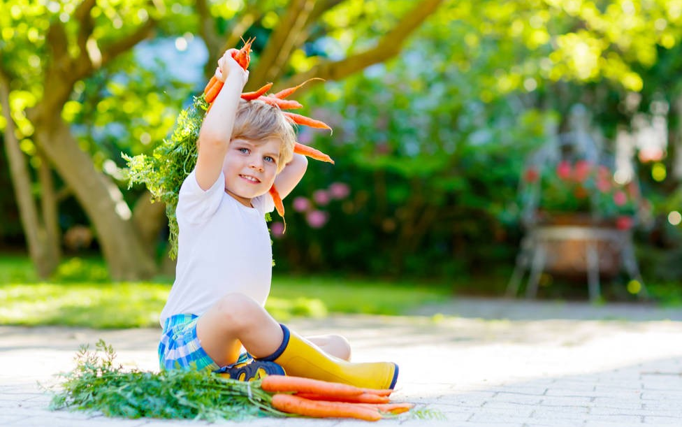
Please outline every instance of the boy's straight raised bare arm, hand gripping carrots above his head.
M249 73L233 59L231 50L228 50L218 60L215 76L224 81L225 85L213 101L199 131L195 173L196 182L203 190L208 190L215 184L222 170L240 95Z

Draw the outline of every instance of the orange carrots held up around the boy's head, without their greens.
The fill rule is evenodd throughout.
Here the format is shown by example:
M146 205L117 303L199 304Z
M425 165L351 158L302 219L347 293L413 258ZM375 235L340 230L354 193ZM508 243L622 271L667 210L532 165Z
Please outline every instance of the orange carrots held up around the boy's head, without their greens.
M254 39L249 38L244 43L244 46L242 46L241 49L230 49L228 52L231 53L232 57L237 61L237 63L246 70L249 68L249 63L251 62L251 45L253 43ZM296 85L294 87L288 87L286 89L280 90L280 92L277 92L275 94L268 95L267 92L273 87L273 83L268 83L266 85L263 85L260 89L254 91L254 92L244 92L242 93L242 99L246 101L263 101L265 103L270 104L271 106L276 106L277 108L280 108L282 110L293 110L296 108L302 108L303 105L301 105L298 101L293 101L291 99L286 99L289 95L293 94L293 92L296 92L297 89L305 85L307 82L310 82L310 80L321 80L317 78L312 78L309 80L305 80L305 82L301 83L300 85ZM217 77L212 76L212 78L208 81L208 85L206 85L205 89L203 90L204 94L204 99L208 103L208 109L210 110L213 101L215 101L216 96L218 96L220 89L222 89L224 83L220 81ZM208 110L207 110L208 111ZM282 111L282 114L284 117L286 117L287 120L289 120L292 123L296 124L302 124L304 126L310 126L314 127L317 129L330 129L331 127L328 126L328 124L321 122L319 120L314 120L310 117L306 117L304 115L296 114L296 113L291 113L289 111ZM323 152L316 150L312 147L309 147L307 145L303 145L301 143L296 143L293 147L293 152L298 153L298 154L303 154L304 156L310 157L312 159L320 160L320 161L327 161L331 164L334 163L334 161L329 157L327 154L324 154ZM280 194L277 193L277 189L273 185L272 188L270 188L270 195L273 196L273 201L275 201L275 208L277 209L277 213L280 214L280 217L284 217L284 204L282 203L282 198L280 197Z

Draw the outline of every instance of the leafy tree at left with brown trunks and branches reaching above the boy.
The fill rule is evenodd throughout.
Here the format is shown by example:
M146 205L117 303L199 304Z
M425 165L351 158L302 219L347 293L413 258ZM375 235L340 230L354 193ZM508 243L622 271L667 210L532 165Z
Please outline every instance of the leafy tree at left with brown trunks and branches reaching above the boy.
M143 224L159 224L163 209L150 209L147 204L147 215L133 213L110 176L112 168L106 168L102 160L108 153L89 145L94 138L77 133L75 126L79 117L89 115L88 105L96 106L104 117L118 108L128 117L141 117L141 123L133 124L138 126L133 134L141 134L139 128L158 124L145 115L149 104L132 101L135 92L129 89L135 78L124 78L123 84L116 78L106 78L122 71L143 78L145 74L133 61L133 48L153 36L154 31L162 36L201 34L212 58L224 48L233 47L249 31L257 32L263 53L255 64L253 85L292 71L300 73L304 68L319 77L335 79L396 55L402 41L441 2L426 0L417 6L408 1L386 0L3 2L2 127L22 224L38 271L49 274L59 256L52 168L87 212L113 277L142 277L155 270L153 251L149 239L145 239L153 236L154 226ZM357 24L349 27L348 20L338 22L338 12L356 18ZM383 23L382 30L390 31L378 36L383 34L374 28L378 22ZM361 34L355 28L367 29L368 33ZM317 53L306 55L307 46L333 40L329 36L333 31L343 32L349 43L338 46L342 59L331 61L319 59ZM211 63L215 61L208 61ZM100 89L92 90L90 85L98 80ZM158 93L152 90L156 83L145 80L146 92ZM143 92L141 87L138 90ZM115 103L126 95L130 97L127 102ZM95 101L97 96L101 97L99 102ZM150 96L143 99L149 100ZM170 103L152 101L156 101L152 106ZM40 213L31 193L34 178L22 152L36 156L35 163L41 165ZM145 203L136 206L143 210ZM150 217L155 220L149 221Z

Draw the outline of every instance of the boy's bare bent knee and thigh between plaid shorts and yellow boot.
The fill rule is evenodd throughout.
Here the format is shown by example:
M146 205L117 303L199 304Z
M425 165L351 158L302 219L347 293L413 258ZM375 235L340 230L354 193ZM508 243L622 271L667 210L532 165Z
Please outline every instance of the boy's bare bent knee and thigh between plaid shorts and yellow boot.
M235 363L240 347L254 357L273 354L282 344L280 324L252 298L229 294L199 317L196 335L201 347L219 366Z

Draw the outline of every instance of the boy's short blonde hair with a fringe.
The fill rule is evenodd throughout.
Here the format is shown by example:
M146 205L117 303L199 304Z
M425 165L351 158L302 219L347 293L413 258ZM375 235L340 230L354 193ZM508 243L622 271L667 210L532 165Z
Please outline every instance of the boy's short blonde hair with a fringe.
M230 140L235 138L252 141L268 138L281 140L277 173L293 159L293 145L296 143L293 124L286 120L280 108L263 101L240 100Z

